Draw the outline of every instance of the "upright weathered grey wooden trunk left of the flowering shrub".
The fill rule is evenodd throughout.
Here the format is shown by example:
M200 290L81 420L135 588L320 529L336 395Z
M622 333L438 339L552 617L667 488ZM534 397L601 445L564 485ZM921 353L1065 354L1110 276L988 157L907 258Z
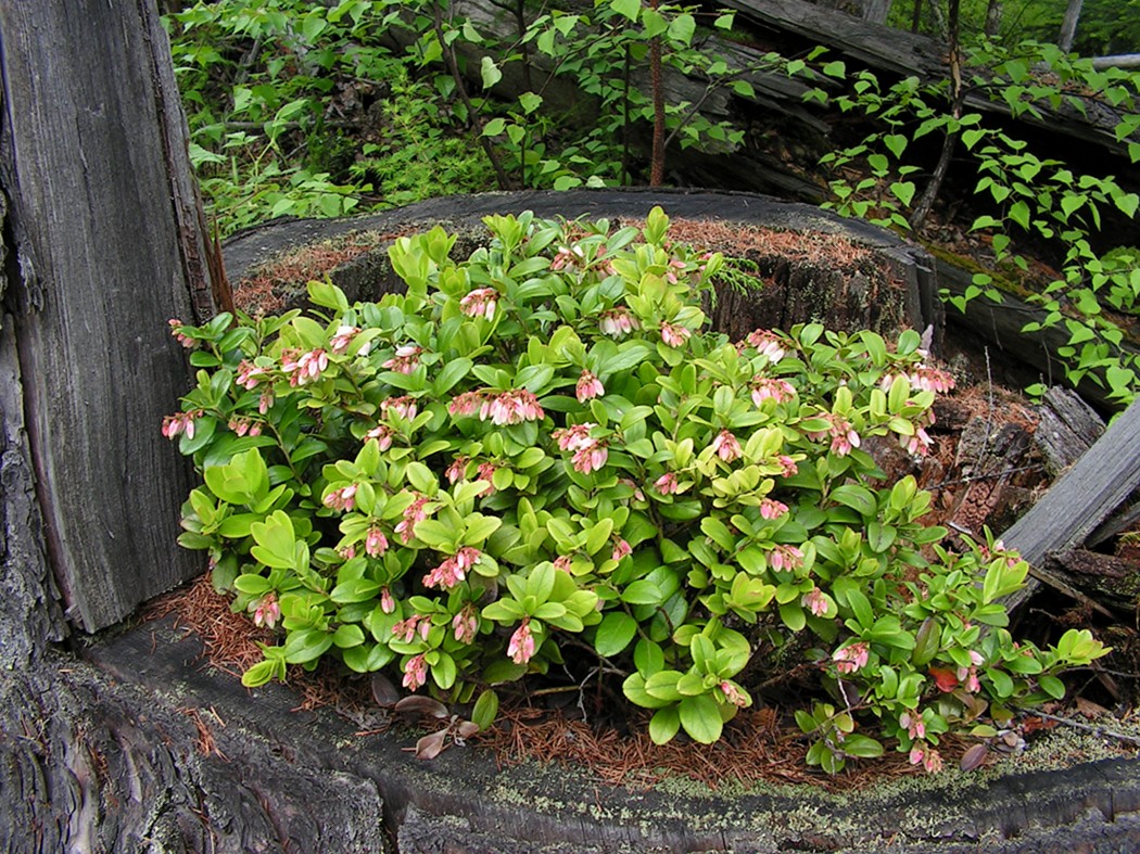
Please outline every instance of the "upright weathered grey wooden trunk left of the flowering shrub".
M166 320L206 306L186 131L153 0L0 0L9 284L46 539L88 631L201 570ZM204 288L204 291L203 291Z

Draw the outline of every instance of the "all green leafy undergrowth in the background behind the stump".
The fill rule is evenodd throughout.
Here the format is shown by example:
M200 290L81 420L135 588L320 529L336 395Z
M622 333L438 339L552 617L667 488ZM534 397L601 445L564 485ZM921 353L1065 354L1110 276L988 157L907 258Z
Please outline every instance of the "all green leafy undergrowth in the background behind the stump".
M954 192L968 198L961 227L990 247L983 254L992 269L950 302L964 310L980 295L1001 301L1003 290L1027 289L1020 295L1043 311L1025 331L1065 330L1057 355L1066 378L1099 385L1126 405L1140 388L1130 331L1140 251L1126 237L1140 197L1104 171L1140 163L1140 73L1023 41L1056 33L1065 8L1056 0L1007 10L996 41L982 38L995 3L953 6L964 39L950 51L959 64L926 81L848 68L819 50L772 51L744 66L710 47L714 33L744 38L733 35L731 14L668 2L593 0L573 11L519 5L513 32L490 26L472 5L445 0L217 0L166 22L190 155L222 233L271 216L340 216L495 184L643 182L654 43L663 67L690 83L692 100L661 92L665 142L679 147L725 153L744 145L744 124L709 120L700 107L724 92L741 104L755 98L755 72L821 84L805 93L808 105L858 115L858 126L870 129L839 150L825 143L819 164L798 164L828 184L831 204L921 238L936 199L951 195L942 188L953 173ZM1090 0L1084 49L1131 49L1132 23L1119 3ZM940 38L944 27L935 27ZM524 91L497 97L507 74ZM565 87L576 92L569 102L557 95ZM1048 123L1049 109L1096 116L1126 157L1115 166L1062 162L1034 150L1002 117ZM1115 243L1101 233L1102 219L1124 225ZM1034 256L1057 269L1051 281L1027 281Z

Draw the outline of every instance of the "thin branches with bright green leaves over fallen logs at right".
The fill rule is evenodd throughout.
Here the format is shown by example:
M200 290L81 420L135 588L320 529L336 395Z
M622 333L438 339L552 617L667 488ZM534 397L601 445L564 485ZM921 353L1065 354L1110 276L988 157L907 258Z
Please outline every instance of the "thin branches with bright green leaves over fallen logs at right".
M1042 68L1049 69L1048 76ZM830 63L823 71L846 76L842 63ZM1124 327L1106 311L1133 311L1140 294L1135 249L1104 253L1094 246L1102 219L1112 214L1134 220L1140 197L1125 191L1112 175L1039 157L1024 140L966 105L969 97L987 98L1015 116L1028 114L1039 120L1047 108L1084 114L1096 105L1118 110L1113 132L1132 163L1140 163L1140 142L1135 141L1140 74L1096 69L1091 60L1034 43L1016 50L982 43L970 52L962 74L964 83L956 93L950 91L948 81L920 83L906 77L883 89L870 72L854 75L852 92L834 104L874 117L881 128L858 145L823 158L837 171L831 184L833 207L897 230L921 229L951 156L964 154L976 174L976 202L982 210L993 211L978 215L970 230L990 238L994 266L1020 278L1029 261L1017 247L1026 241L1040 241L1058 254L1061 278L1027 297L1045 317L1026 325L1024 331L1062 326L1069 342L1058 355L1069 380L1089 377L1107 389L1110 400L1122 405L1131 402L1140 389L1140 361L1135 347L1125 346ZM822 90L812 97L826 98ZM912 143L928 134L943 137L943 155L923 189L918 182L920 166L907 163L907 157ZM865 163L868 173L853 186L842 169L855 161ZM1002 299L990 273L976 274L967 293L950 302L964 310L968 301L983 295Z

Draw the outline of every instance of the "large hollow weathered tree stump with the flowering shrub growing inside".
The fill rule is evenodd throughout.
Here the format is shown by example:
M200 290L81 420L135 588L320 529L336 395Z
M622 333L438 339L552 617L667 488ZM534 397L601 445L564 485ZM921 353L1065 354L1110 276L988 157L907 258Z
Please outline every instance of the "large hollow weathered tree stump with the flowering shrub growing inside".
M915 295L912 305L922 304L920 252L858 223L750 196L528 194L469 199L462 211L447 199L393 212L377 228L401 216L477 222L486 213L528 208L633 217L654 204L693 220L724 216L735 204L738 216L747 211L750 222L773 231L814 223L824 233L855 235L898 260L896 274L910 282L904 293ZM367 222L278 229L327 237ZM243 245L276 239L274 229L245 235L233 245L234 257ZM247 256L252 263L256 253ZM239 262L230 263L236 273ZM6 334L10 350L10 327ZM0 363L18 369L11 360ZM198 641L169 619L82 650L51 648L47 638L58 624L44 607L50 584L18 385L5 388L0 567L9 596L0 606L0 664L8 674L0 680L0 846L7 849L1040 852L1140 845L1140 774L1096 739L1060 740L1036 765L948 771L847 794L612 787L580 769L500 770L470 747L417 761L406 749L415 732L363 731L328 708L298 712L300 698L283 685L246 691L234 674L203 663ZM172 537L169 548L176 548Z

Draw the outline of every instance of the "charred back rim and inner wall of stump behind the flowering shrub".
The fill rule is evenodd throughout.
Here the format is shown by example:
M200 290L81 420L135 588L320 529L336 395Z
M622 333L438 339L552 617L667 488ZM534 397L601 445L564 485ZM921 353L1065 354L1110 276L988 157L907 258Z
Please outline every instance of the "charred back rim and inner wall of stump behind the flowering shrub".
M919 247L889 232L856 220L845 220L812 205L768 196L709 190L571 190L480 194L432 199L370 216L350 220L275 222L237 235L227 241L226 263L238 282L259 264L301 245L380 233L391 237L408 230L442 224L461 232L455 254L466 257L486 235L480 221L487 214L531 211L542 217L644 219L660 205L674 220L717 221L742 230L763 227L749 235L738 261L755 268L759 289L718 288L709 309L714 328L736 340L757 328L787 329L795 323L821 322L832 329L874 329L886 335L927 327L940 336L943 312L938 302L929 256ZM766 243L771 237L790 240ZM865 257L845 258L831 243L858 247ZM789 256L787 243L801 248ZM812 260L809 249L820 244L825 260ZM386 263L388 243L380 243L332 272L332 279L350 299L375 299L401 289ZM716 247L712 247L716 248ZM848 249L850 252L850 249ZM307 304L303 287L295 302Z

